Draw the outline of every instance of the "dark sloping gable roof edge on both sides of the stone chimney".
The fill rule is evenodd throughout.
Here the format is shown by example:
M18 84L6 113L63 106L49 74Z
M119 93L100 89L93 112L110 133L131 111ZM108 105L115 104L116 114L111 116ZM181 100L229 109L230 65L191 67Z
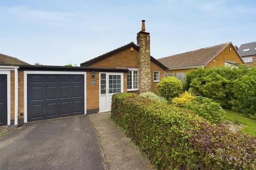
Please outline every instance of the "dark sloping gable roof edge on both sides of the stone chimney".
M137 46L137 45L135 45L133 42L131 42L131 43L126 44L126 45L124 45L124 46L122 46L122 47L119 47L119 48L116 48L116 49L114 49L114 50L111 50L111 51L108 52L108 53L105 53L105 54L102 54L102 55L100 55L100 56L98 56L98 57L95 57L95 58L93 58L93 59L91 59L91 60L89 60L89 61L86 61L86 62L84 62L84 63L81 63L80 65L81 65L81 66L89 66L90 64L95 63L95 62L98 62L98 61L102 60L103 58L110 57L110 56L112 56L112 55L114 55L114 54L117 54L117 53L119 53L119 52L122 52L123 50L125 50L125 49L127 49L127 48L131 48L131 47L133 47L133 48L135 48L135 49L137 49L137 50L140 49L139 46ZM161 62L157 61L153 56L150 56L150 59L151 59L151 61L155 62L157 65L161 66L164 70L167 69L167 67L166 67L164 64L162 64Z

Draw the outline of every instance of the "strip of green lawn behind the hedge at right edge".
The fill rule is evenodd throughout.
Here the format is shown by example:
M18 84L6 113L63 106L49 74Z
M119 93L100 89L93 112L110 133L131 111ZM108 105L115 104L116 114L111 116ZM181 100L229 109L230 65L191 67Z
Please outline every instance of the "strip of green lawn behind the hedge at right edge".
M244 124L241 130L244 133L256 136L256 120L246 117L245 115L233 111L226 111L224 118L238 124Z

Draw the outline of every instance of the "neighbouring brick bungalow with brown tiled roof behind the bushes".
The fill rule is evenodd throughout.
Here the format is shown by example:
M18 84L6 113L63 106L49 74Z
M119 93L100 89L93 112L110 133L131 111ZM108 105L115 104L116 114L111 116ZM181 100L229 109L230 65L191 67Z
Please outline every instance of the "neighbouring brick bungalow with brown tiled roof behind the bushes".
M232 43L196 49L191 52L158 58L168 69L165 76L184 81L186 72L198 67L223 67L244 64Z

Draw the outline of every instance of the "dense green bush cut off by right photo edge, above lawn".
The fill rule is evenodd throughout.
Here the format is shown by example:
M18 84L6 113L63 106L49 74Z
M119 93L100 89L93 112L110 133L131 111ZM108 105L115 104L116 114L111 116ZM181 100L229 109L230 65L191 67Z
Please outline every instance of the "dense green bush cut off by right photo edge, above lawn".
M249 115L256 114L256 71L234 81L232 109Z

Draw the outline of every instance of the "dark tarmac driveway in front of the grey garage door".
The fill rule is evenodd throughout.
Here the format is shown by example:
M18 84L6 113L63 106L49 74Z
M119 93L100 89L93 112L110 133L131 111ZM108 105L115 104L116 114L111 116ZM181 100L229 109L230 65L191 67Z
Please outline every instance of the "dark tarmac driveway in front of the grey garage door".
M0 169L105 169L88 115L31 122L0 137Z

